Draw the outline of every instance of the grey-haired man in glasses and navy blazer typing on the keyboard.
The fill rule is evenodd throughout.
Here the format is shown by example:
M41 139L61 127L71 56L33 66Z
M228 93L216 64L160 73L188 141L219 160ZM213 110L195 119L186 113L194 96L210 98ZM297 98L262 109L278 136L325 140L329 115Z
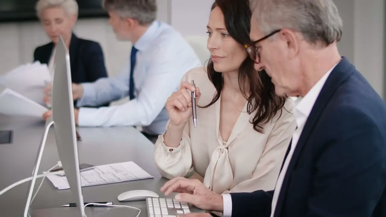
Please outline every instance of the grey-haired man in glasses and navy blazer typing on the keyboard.
M275 190L220 196L175 178L161 191L224 217L386 216L386 104L340 56L335 4L254 0L251 8L253 42L245 47L255 69L267 72L278 95L298 96Z

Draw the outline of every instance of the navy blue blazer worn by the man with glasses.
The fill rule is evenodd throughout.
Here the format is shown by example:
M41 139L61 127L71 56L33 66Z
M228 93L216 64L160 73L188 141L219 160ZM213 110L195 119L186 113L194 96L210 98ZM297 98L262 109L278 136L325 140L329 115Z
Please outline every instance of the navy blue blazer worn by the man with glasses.
M385 217L385 186L386 104L343 58L306 121L274 217ZM232 217L271 215L273 191L231 197Z

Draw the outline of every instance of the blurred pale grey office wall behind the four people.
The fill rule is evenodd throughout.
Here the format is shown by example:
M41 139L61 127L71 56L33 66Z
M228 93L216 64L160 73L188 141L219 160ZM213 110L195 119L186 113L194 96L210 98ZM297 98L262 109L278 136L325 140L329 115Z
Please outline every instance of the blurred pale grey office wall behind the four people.
M20 7L32 0L0 1L0 75L23 63L33 61L35 47L49 42L41 24L22 17L6 19L2 11ZM84 0L78 1L83 2ZM94 0L100 5L100 0ZM34 1L32 1L34 2ZM340 53L346 56L374 89L386 97L386 0L334 0L344 22ZM191 43L201 61L209 57L206 50L206 25L212 0L157 0L157 19L171 24ZM80 3L80 8L82 7ZM86 13L85 13L86 14ZM91 13L92 14L92 13ZM102 15L102 16L100 16ZM88 14L90 16L90 13ZM74 33L81 38L97 41L105 54L109 76L119 73L130 56L130 42L117 41L107 17L95 13L80 16Z

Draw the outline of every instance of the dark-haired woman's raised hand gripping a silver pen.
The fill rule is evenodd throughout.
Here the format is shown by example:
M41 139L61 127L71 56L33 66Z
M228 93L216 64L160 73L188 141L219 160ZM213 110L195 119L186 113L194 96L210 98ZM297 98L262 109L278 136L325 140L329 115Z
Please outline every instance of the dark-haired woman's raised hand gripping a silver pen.
M175 127L184 127L192 116L191 92L196 91L196 103L201 93L198 87L184 81L178 91L174 92L166 101L165 108L168 111L170 124Z

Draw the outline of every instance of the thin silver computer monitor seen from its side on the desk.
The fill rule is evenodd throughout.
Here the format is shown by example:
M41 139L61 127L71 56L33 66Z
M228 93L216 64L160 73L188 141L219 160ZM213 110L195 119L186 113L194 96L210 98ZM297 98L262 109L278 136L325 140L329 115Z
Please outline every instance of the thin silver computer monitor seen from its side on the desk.
M83 195L81 189L78 143L74 118L74 104L70 57L63 38L59 38L54 58L54 73L52 78L52 120L56 146L70 190L76 198L80 217L85 216Z

